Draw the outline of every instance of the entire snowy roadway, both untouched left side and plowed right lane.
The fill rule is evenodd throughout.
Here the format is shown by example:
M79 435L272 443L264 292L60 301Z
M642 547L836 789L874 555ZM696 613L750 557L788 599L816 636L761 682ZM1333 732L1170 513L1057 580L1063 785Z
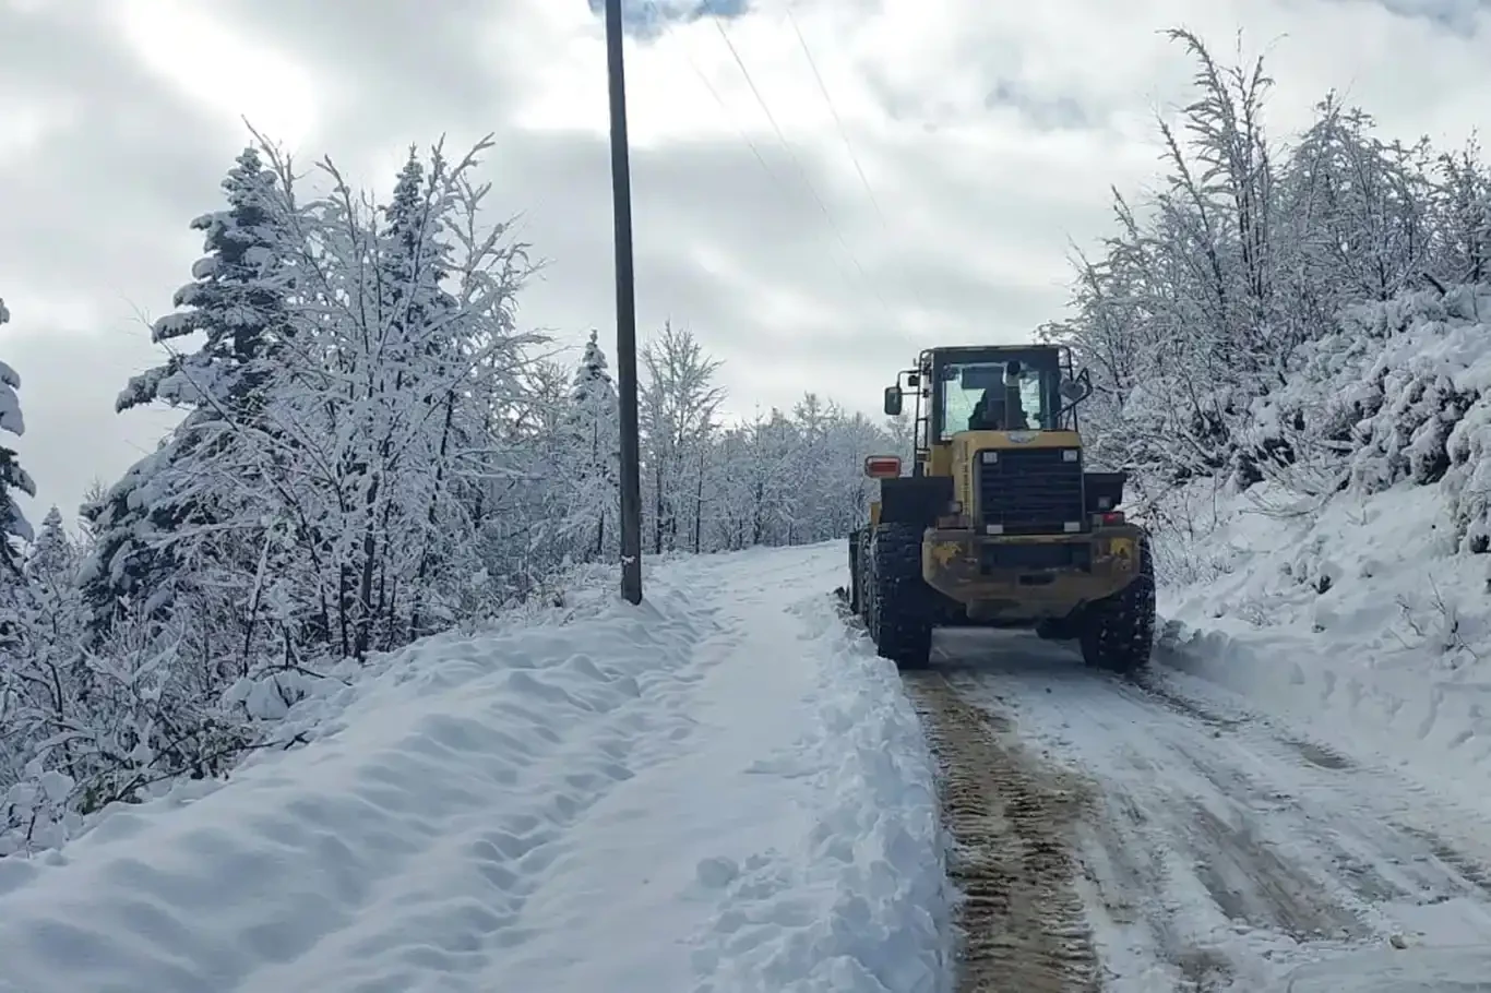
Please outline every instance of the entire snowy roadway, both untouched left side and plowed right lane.
M0 859L0 993L1264 993L1491 944L1455 801L1030 635L902 678L844 559L649 564L640 608L327 680L285 722L310 744Z

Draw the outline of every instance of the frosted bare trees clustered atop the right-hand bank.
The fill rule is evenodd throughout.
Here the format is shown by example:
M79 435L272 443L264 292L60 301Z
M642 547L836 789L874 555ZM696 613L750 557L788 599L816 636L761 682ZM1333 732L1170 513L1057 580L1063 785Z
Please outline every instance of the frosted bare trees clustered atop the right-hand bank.
M1196 36L1172 37L1197 97L1160 122L1164 182L1141 203L1115 192L1117 233L1078 259L1071 313L1042 330L1093 373L1094 458L1127 468L1151 508L1197 476L1267 479L1317 505L1445 480L1466 547L1491 547L1479 146L1385 140L1334 94L1291 143L1270 142L1261 63L1223 69Z

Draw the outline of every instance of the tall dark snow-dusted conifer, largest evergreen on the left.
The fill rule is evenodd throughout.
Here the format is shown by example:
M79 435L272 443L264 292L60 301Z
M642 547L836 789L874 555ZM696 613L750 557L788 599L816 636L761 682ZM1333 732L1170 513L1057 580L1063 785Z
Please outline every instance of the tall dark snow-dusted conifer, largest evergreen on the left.
M239 155L222 189L227 209L191 222L204 233L206 255L176 291L180 310L152 327L152 340L167 347L192 334L201 344L133 377L115 404L124 412L160 401L188 414L85 508L95 544L79 579L95 635L124 602L163 617L189 584L188 567L253 570L258 520L246 494L273 480L283 459L276 452L283 438L261 417L274 352L289 337L283 195L253 148Z

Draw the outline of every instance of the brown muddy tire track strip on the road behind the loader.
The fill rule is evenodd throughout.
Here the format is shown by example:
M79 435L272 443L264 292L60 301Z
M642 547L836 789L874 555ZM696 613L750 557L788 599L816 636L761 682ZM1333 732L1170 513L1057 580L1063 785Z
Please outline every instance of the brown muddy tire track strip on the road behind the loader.
M1074 828L1090 804L1075 774L1039 762L1008 725L935 672L908 674L941 769L948 875L963 899L957 993L1099 993L1097 953L1074 887Z

